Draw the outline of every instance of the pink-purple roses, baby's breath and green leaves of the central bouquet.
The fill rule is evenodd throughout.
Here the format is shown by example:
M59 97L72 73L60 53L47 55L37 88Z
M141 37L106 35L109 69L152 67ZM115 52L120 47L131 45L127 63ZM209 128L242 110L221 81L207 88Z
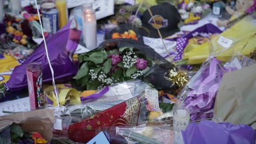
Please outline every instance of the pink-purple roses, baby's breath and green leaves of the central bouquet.
M80 69L75 79L88 90L137 79L153 63L135 47L99 48L80 55L79 62Z

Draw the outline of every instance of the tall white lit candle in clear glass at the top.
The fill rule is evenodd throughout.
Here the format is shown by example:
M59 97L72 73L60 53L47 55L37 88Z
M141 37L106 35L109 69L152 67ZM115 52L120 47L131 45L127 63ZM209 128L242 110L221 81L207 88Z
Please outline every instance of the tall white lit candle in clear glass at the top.
M95 49L97 47L97 22L95 10L92 9L91 4L83 5L83 15L84 15L84 26L83 35L84 43L89 50Z

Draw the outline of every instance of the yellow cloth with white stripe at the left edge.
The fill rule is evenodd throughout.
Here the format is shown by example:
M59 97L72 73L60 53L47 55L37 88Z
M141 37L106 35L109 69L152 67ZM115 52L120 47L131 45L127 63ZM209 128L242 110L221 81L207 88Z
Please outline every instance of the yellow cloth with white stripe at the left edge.
M2 55L2 54L0 54ZM0 59L0 84L7 82L10 79L13 69L20 63L12 56L3 55Z

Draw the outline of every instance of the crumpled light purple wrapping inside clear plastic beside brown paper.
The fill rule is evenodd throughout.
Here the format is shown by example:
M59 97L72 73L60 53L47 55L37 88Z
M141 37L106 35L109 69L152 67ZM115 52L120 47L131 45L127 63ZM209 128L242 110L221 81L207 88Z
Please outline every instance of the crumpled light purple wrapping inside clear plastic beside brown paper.
M220 61L212 58L203 64L190 80L187 85L190 90L188 97L185 99L185 107L190 109L190 119L192 121L198 119L203 112L213 109L214 99L225 72L226 69L220 65Z

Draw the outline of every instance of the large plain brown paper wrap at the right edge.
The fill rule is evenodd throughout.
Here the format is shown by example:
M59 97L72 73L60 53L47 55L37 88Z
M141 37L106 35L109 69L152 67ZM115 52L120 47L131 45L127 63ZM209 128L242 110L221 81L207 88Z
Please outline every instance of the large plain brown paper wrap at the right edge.
M251 125L256 122L256 64L223 76L214 105L214 121Z

